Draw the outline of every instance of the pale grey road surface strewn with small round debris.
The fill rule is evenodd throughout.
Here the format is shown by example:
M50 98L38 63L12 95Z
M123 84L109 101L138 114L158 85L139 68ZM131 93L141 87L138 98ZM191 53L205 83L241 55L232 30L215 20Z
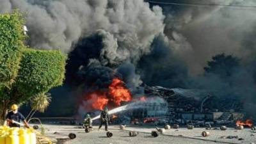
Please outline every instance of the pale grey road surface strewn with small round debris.
M236 130L228 128L227 131L207 130L210 136L202 137L204 128L195 128L188 130L186 128L170 129L164 134L153 138L150 134L154 131L154 127L150 126L127 126L125 131L118 129L118 125L111 125L109 131L113 132L113 137L108 138L106 131L101 129L98 131L94 126L92 132L85 133L81 126L77 125L45 125L46 135L49 138L57 139L58 144L216 144L216 143L256 143L256 133L250 129ZM139 131L140 134L136 137L129 137L128 131ZM74 140L68 140L68 134L73 132L76 134ZM237 136L238 138L223 138L224 136ZM222 137L222 138L221 138ZM243 140L239 140L243 138Z

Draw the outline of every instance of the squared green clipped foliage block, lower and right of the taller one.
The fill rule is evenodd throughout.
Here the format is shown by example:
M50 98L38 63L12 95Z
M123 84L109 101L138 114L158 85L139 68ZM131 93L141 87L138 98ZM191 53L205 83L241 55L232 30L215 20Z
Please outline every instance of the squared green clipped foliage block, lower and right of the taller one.
M66 56L60 51L26 49L22 52L15 89L28 98L60 86L65 77Z

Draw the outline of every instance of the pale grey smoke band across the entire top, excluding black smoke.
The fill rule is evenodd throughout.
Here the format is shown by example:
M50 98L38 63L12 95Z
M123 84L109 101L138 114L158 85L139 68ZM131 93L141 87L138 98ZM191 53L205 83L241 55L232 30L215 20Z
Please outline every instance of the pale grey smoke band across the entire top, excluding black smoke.
M256 5L253 0L182 2ZM29 45L38 49L70 52L80 38L99 33L104 37L99 58L104 65L136 63L163 31L169 49L192 75L202 73L206 61L222 52L254 59L256 8L159 5L163 10L143 0L1 0L0 13L26 12Z

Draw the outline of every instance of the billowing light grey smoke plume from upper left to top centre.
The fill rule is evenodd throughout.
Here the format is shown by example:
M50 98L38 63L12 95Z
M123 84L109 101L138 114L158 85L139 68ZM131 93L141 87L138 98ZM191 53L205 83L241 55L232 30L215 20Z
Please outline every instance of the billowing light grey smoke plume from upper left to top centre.
M164 28L162 9L143 0L1 0L0 13L14 9L26 13L28 43L38 49L70 52L79 38L99 33L104 65L137 61Z

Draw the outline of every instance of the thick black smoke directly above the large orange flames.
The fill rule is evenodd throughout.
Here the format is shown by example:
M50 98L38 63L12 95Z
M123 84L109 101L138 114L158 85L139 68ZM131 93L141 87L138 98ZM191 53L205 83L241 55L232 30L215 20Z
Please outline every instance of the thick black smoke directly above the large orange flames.
M112 79L118 77L125 81L132 91L142 83L140 76L136 74L134 64L124 61L119 65L105 63L108 58L102 55L106 51L106 35L102 30L92 36L82 38L76 44L74 51L70 52L67 61L66 83L71 86L81 84L93 84L97 88L107 88Z

